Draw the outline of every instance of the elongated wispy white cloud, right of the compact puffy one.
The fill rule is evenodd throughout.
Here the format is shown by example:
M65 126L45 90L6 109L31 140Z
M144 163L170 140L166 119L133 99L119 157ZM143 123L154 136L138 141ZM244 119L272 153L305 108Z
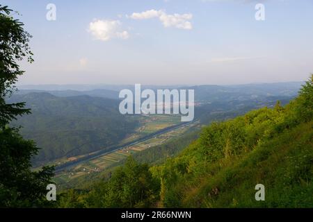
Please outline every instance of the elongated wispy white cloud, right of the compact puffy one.
M131 19L152 19L154 17L159 17L159 20L162 22L164 27L175 27L182 29L192 29L193 26L191 20L193 15L191 13L188 14L173 14L168 15L166 12L162 10L146 10L145 12L134 12L130 18Z

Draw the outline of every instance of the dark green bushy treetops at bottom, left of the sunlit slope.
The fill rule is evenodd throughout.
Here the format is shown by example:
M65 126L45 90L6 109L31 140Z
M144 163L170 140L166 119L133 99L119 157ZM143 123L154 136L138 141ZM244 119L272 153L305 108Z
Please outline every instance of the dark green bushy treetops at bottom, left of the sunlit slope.
M70 190L62 194L58 207L150 207L158 197L159 182L152 178L147 164L129 157L105 182L99 182L84 195Z

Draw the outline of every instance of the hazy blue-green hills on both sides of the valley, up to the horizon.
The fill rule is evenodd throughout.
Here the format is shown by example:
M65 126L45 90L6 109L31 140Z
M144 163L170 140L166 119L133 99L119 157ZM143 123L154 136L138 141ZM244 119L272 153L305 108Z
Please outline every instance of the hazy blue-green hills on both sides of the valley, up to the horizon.
M264 105L272 107L277 100L286 104L296 96L300 85L200 85L178 89L195 89L195 101L200 104L195 108L195 119L209 123ZM153 87L155 90L158 86ZM116 144L131 134L138 123L120 114L118 94L111 89L20 89L8 101L25 101L26 107L31 108L32 114L20 117L13 124L23 126L23 135L42 147L35 162L47 162L69 152L70 155L90 153Z

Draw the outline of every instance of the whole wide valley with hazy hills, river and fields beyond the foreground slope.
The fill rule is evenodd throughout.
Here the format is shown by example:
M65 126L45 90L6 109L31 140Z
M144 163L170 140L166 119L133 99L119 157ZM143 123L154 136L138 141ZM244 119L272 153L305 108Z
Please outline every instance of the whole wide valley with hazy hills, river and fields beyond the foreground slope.
M33 170L55 166L54 182L59 189L67 189L110 175L130 155L143 162L161 163L196 139L192 132L202 126L273 107L278 100L286 104L299 84L275 84L275 89L262 85L264 90L261 85L195 87L195 120L186 123L179 114L121 115L119 101L112 99L117 92L109 89L22 89L10 101L26 101L32 109L32 114L13 124L22 125L23 135L42 147L33 160Z

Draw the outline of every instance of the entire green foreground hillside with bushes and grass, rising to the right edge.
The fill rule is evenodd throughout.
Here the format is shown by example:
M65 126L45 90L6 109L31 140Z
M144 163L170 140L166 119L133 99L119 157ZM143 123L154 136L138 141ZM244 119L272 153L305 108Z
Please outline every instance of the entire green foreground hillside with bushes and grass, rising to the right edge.
M262 108L203 128L166 163L133 158L59 207L312 207L312 77L285 107ZM265 201L255 200L263 184Z

